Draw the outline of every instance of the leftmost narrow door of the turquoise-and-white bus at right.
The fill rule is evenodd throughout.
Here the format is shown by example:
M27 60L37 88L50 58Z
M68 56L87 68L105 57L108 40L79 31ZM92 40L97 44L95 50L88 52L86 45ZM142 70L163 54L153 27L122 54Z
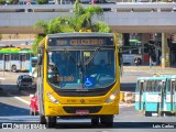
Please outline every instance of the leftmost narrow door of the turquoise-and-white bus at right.
M140 84L140 97L139 97L139 109L143 110L143 91L144 91L144 80L141 80Z

